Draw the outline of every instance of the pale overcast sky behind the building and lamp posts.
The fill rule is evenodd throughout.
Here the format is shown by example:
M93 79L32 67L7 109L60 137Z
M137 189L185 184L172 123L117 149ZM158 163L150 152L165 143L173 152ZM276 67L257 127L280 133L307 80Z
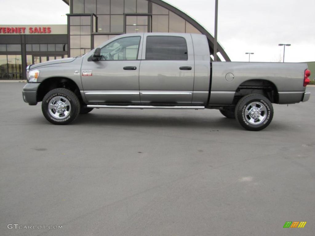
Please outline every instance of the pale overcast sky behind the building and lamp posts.
M215 0L167 0L214 35ZM1 0L1 25L66 24L62 0ZM218 40L232 61L315 61L315 0L219 0Z

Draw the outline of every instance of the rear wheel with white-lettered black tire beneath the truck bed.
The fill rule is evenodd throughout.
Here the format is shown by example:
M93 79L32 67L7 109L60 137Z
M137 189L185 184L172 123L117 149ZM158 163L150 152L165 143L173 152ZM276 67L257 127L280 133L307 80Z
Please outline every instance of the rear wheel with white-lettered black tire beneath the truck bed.
M245 129L259 131L266 128L272 121L273 107L265 96L249 94L238 101L235 117Z

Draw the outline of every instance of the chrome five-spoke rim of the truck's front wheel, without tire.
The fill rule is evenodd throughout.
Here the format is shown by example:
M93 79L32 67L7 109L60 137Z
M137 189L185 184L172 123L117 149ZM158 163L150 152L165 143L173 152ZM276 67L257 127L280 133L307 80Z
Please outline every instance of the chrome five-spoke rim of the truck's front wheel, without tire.
M64 119L70 114L71 104L67 98L56 96L50 99L48 110L54 118Z

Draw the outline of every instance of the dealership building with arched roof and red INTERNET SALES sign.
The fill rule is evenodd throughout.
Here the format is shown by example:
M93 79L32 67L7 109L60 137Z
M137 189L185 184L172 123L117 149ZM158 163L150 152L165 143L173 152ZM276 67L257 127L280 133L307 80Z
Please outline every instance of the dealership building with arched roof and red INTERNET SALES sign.
M125 33L204 34L190 16L161 0L60 0L69 5L67 25L0 25L0 80L26 77L27 65L85 54ZM218 60L230 61L218 44ZM213 56L212 56L213 58Z

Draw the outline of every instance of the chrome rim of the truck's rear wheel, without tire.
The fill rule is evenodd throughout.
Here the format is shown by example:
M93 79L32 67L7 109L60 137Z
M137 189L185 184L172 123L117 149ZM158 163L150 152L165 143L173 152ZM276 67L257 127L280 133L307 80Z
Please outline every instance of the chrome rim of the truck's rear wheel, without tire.
M259 125L266 120L267 108L260 102L252 102L247 105L244 116L250 124Z

